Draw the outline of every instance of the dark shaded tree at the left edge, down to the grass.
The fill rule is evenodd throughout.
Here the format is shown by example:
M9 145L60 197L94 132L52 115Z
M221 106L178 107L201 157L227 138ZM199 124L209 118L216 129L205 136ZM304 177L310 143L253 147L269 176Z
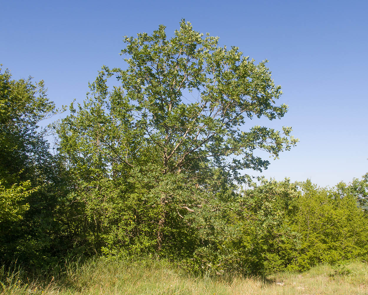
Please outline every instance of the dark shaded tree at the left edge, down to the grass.
M39 126L57 110L43 81L9 70L0 70L0 106L1 262L44 267L71 247L63 166Z

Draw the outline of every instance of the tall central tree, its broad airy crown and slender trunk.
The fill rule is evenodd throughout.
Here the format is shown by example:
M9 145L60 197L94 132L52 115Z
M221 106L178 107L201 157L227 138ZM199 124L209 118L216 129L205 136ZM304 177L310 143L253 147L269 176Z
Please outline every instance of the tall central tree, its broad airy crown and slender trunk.
M268 167L256 149L278 157L296 144L290 127L282 132L245 128L247 119L273 120L287 112L287 105L276 104L282 92L267 60L256 65L236 46L220 47L218 37L204 36L184 20L170 39L160 25L152 35L125 37L125 43L121 53L130 56L124 59L127 69L103 66L90 84L88 100L78 111L71 107L72 114L59 126L60 152L71 167L79 165L92 178L100 175L93 169L104 171L104 177L128 177L129 171L152 162L162 180L180 175L199 189L216 192L214 180L231 186L247 179L242 170ZM112 76L120 86L109 91ZM158 194L161 249L174 201L167 191ZM192 210L188 204L193 203L188 200L181 208Z

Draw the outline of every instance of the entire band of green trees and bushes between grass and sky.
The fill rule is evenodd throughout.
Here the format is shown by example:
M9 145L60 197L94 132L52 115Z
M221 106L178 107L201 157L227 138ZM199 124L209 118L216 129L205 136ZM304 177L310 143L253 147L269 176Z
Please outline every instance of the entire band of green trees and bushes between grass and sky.
M245 173L270 164L258 150L277 158L298 142L291 127L252 124L288 110L267 60L184 20L171 38L160 25L124 41L125 68L103 66L48 128L39 122L59 110L43 81L0 72L4 264L158 256L198 273L268 273L367 261L368 173L331 189Z

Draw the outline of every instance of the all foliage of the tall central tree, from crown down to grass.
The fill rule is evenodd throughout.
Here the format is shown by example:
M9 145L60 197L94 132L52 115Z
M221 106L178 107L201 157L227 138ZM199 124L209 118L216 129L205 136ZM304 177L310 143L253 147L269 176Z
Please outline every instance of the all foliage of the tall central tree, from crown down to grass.
M247 179L240 170L267 168L254 150L277 157L297 142L289 127L284 136L261 126L244 129L247 119L283 117L287 106L276 105L280 86L266 61L255 65L184 20L170 39L160 26L125 43L128 68L103 67L84 104L71 105L57 125L59 152L79 183L87 239L107 235L98 249L190 253L203 238L196 234L201 218L216 219L206 210L231 201L233 181ZM121 85L110 91L113 75ZM187 93L198 98L188 101ZM127 215L113 213L119 211Z

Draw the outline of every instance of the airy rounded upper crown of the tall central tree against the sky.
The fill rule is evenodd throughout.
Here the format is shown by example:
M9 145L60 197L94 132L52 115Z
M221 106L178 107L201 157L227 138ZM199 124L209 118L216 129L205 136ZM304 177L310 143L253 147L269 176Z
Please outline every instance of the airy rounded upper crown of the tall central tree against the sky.
M152 35L137 35L124 39L127 69L104 66L91 84L96 107L106 116L96 121L104 125L99 144L113 150L120 162L135 166L130 147L110 136L106 123L128 126L124 134L131 132L129 138L138 132L155 150L163 173L184 171L197 179L218 167L244 180L241 170L262 171L269 165L254 150L277 157L296 144L290 127L282 132L249 128L252 118L273 120L287 112L287 105L276 104L281 87L271 79L267 60L256 65L236 46L220 47L218 37L194 31L184 20L171 38L163 25ZM113 91L106 84L111 76L121 83Z

